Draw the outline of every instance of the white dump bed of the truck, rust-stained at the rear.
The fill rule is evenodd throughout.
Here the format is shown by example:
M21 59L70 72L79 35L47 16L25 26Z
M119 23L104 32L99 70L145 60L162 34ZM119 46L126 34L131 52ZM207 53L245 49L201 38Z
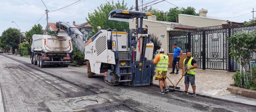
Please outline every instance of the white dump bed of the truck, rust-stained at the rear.
M71 53L71 38L65 36L33 35L31 49L45 53Z

